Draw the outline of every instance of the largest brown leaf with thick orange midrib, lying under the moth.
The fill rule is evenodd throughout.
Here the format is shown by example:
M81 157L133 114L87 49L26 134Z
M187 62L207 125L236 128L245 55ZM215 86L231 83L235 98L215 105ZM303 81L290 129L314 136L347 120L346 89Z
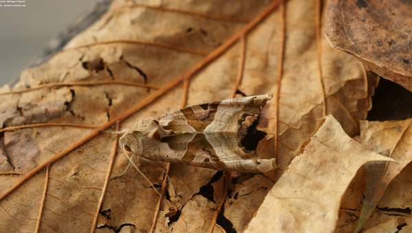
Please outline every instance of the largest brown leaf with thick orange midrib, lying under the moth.
M128 160L121 151L116 155L115 136L102 132L117 120L125 129L146 116L181 108L187 86L189 105L227 99L234 93L279 93L268 105L277 108L279 116L268 110L267 125L264 121L260 125L270 134L259 145L263 154L275 156L277 138L276 156L282 169L266 174L272 180L299 154L326 114L333 114L347 133L358 132L357 122L366 117L377 79L367 77L361 62L332 49L323 39L321 8L315 1L288 1L282 8L285 17L277 10L277 1L141 4L113 1L111 10L65 49L24 71L16 88L102 80L150 85L147 88L71 84L0 95L3 126L48 123L48 127L1 135L3 145L6 136L10 138L10 148L4 147L0 154L5 172L0 174L2 232L37 227L41 232L170 232L172 225L183 229L191 217L197 218L190 229L221 230L218 225L225 217L241 232L273 181L240 175L233 180L234 193L227 199L233 202L225 203L217 197L226 193L219 193L222 188L211 182L216 171L135 161L161 187L164 195L159 199L134 169L121 174ZM279 59L283 49L284 59ZM283 75L278 75L281 64ZM191 78L190 85L179 85ZM31 154L32 162L16 149L19 142L11 140L15 136L30 141L22 149L38 148L38 154ZM4 162L8 158L21 161L20 169L12 170L13 162ZM216 200L201 197L214 186L216 193L211 196ZM235 193L244 195L236 199ZM241 205L248 209L236 207ZM220 211L223 217L218 217Z

